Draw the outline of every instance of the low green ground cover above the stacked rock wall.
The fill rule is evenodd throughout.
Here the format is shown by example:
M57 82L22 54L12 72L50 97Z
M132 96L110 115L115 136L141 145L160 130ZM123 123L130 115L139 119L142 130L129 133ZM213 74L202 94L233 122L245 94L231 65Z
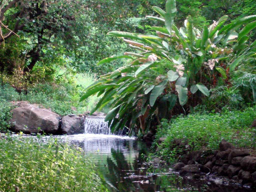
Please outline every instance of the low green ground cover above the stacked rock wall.
M256 130L250 127L254 119L255 106L243 111L224 109L222 113L178 116L171 122L164 120L158 127L155 145L159 137L166 137L158 152L163 156L176 155L172 148L175 139L187 140L192 150L217 150L222 139L238 147L255 148Z

